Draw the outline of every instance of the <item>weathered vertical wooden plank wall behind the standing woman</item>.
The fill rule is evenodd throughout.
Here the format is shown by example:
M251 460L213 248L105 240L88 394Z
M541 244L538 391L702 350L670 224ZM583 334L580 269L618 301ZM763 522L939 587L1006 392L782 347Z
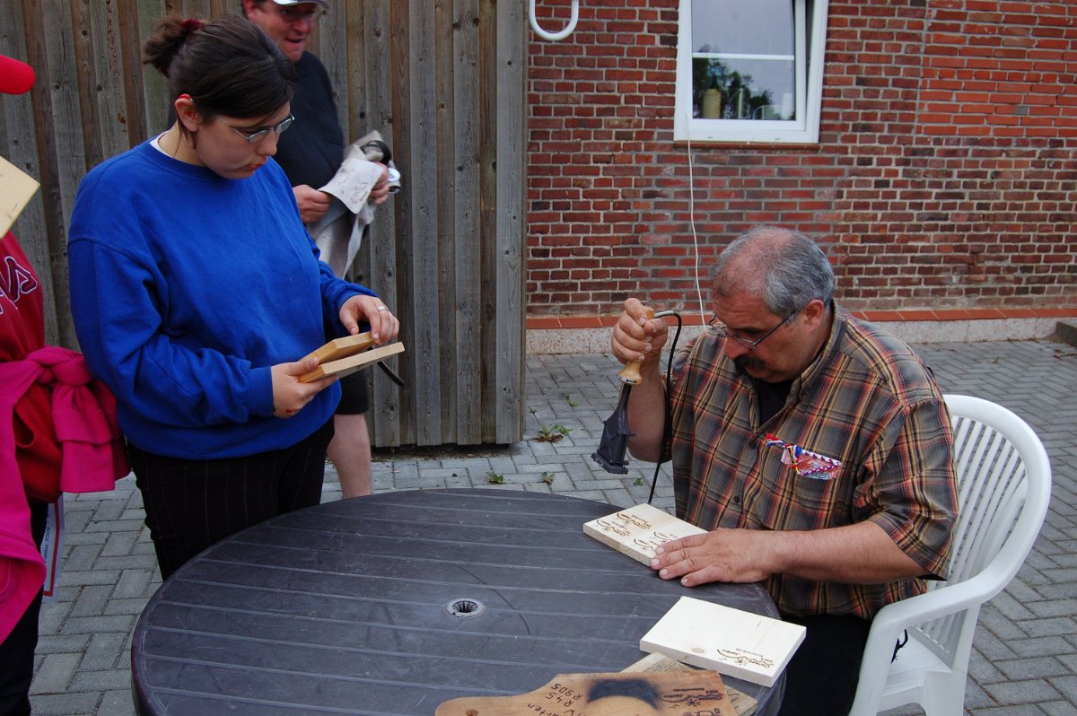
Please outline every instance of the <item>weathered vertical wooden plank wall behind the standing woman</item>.
M374 444L507 444L523 434L524 3L332 0L310 50L340 121L377 129L403 189L378 209L353 266L401 318L397 389L374 370ZM33 66L0 96L0 154L41 181L15 225L46 289L47 339L75 347L67 223L102 159L167 128L164 81L141 44L168 11L239 0L11 0L0 54Z

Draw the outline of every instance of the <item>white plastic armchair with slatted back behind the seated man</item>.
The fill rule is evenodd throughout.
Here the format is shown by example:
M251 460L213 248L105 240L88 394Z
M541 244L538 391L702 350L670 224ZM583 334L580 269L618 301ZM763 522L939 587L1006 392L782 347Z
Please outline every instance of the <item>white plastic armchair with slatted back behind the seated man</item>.
M978 397L947 395L946 402L959 491L950 578L876 615L851 716L907 703L927 716L964 713L980 605L1017 574L1047 515L1051 466L1029 424ZM909 641L892 663L906 631Z

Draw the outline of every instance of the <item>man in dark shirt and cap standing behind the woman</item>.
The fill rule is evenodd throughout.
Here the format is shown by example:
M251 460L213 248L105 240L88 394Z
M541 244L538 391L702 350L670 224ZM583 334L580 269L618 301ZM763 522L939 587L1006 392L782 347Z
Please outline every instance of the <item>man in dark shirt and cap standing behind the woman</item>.
M307 52L307 41L319 18L325 14L324 0L243 0L243 14L262 28L295 65L295 95L292 114L295 126L280 138L277 164L281 166L295 193L299 214L307 226L321 219L331 198L324 186L344 160L344 130L337 120L336 102L328 73L314 55ZM368 203L382 203L389 196L388 171L370 192ZM334 266L334 270L337 267ZM347 267L344 268L347 271ZM338 275L344 271L338 270ZM370 492L370 437L366 427L369 395L365 373L340 381L341 397L333 424L335 435L328 458L337 471L345 497Z

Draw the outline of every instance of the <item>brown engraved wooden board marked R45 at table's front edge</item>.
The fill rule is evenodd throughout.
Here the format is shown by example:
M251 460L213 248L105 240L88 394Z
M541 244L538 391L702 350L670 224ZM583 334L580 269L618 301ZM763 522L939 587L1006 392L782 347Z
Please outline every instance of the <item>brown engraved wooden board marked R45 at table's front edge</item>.
M513 697L463 697L434 716L737 716L713 671L558 674Z

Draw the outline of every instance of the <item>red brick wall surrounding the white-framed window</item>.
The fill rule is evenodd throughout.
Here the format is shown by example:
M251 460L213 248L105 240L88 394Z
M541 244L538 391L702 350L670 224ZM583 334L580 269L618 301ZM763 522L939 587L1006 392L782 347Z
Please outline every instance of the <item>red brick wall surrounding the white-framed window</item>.
M753 224L816 237L853 309L1077 308L1077 2L831 0L819 144L696 143L691 183L677 8L532 34L529 314L697 308L693 217L704 267Z

